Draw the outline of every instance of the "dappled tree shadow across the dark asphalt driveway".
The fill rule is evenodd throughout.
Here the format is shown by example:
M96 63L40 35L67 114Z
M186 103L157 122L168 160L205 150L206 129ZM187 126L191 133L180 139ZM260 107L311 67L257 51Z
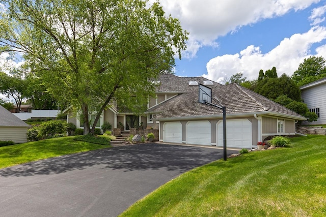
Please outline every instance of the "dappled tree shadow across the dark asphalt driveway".
M228 151L228 155L238 151ZM222 149L165 144L139 144L105 148L26 163L0 170L0 176L59 174L98 166L101 169L185 171L223 158Z

